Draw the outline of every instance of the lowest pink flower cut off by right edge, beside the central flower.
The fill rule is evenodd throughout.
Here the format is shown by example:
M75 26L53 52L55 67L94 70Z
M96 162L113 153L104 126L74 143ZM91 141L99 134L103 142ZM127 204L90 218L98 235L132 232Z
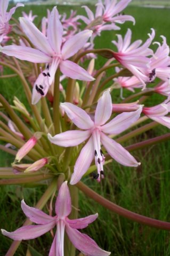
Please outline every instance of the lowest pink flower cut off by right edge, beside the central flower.
M154 107L144 107L142 112L153 121L156 121L170 129L170 117L165 116L170 111L170 102L162 103Z

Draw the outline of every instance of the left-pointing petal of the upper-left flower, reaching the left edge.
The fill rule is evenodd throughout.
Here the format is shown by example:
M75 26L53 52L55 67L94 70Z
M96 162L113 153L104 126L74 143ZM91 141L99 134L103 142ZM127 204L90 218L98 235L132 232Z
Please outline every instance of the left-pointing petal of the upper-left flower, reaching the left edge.
M1 47L0 52L8 56L14 56L20 60L27 60L34 63L47 63L52 60L51 57L39 50L19 45Z

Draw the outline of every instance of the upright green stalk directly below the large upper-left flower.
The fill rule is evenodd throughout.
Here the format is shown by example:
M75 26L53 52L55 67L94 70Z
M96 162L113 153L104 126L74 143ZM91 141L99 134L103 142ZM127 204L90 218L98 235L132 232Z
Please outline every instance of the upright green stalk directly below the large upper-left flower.
M60 69L56 70L54 81L53 123L55 134L60 133Z

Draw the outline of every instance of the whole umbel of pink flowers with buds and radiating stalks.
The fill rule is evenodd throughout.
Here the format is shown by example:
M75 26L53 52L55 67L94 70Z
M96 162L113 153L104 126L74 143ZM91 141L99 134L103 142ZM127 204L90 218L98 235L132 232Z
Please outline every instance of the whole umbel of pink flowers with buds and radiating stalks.
M36 27L37 16L32 11L22 12L19 22L11 20L17 7L23 4L7 11L9 1L0 0L1 76L4 69L12 71L4 76L6 79L17 75L23 85L21 93L25 93L29 104L28 110L15 95L10 105L0 95L0 148L14 158L10 167L0 168L0 184L20 186L45 182L48 186L35 207L21 201L21 208L29 219L23 227L12 232L2 229L3 235L14 240L7 252L10 254L6 255L14 255L22 240L42 236L53 228L56 233L51 256L69 255L64 246L69 241L71 256L76 255L75 248L88 256L110 255L107 245L102 250L92 238L79 231L96 220L98 213L78 218L77 188L126 218L170 230L168 222L127 211L88 187L88 179L106 182L105 165L111 161L137 167L141 161L129 151L170 139L169 134L164 134L126 148L122 145L130 138L139 139L137 135L158 124L170 128L170 58L166 38L161 36L162 43L153 42L155 30L151 28L144 43L141 39L131 42L132 31L127 29L124 36L118 34L112 41L117 51L104 45L102 49L95 48L103 30L115 33L125 21L135 24L131 15L122 13L129 2L131 0L99 0L95 14L83 6L86 16L71 11L68 18L66 14L59 14L55 6L47 10L47 17ZM80 25L84 25L82 31ZM152 43L157 44L155 52L150 49ZM96 70L99 55L104 65ZM109 69L110 76L107 75ZM155 81L158 81L156 85ZM121 103L116 103L116 89L120 89L120 100L124 99ZM126 89L132 94L123 98ZM145 99L153 93L163 95L164 101L156 106L152 101L152 105L145 105ZM41 209L49 200L47 214ZM71 217L71 212L76 218Z

